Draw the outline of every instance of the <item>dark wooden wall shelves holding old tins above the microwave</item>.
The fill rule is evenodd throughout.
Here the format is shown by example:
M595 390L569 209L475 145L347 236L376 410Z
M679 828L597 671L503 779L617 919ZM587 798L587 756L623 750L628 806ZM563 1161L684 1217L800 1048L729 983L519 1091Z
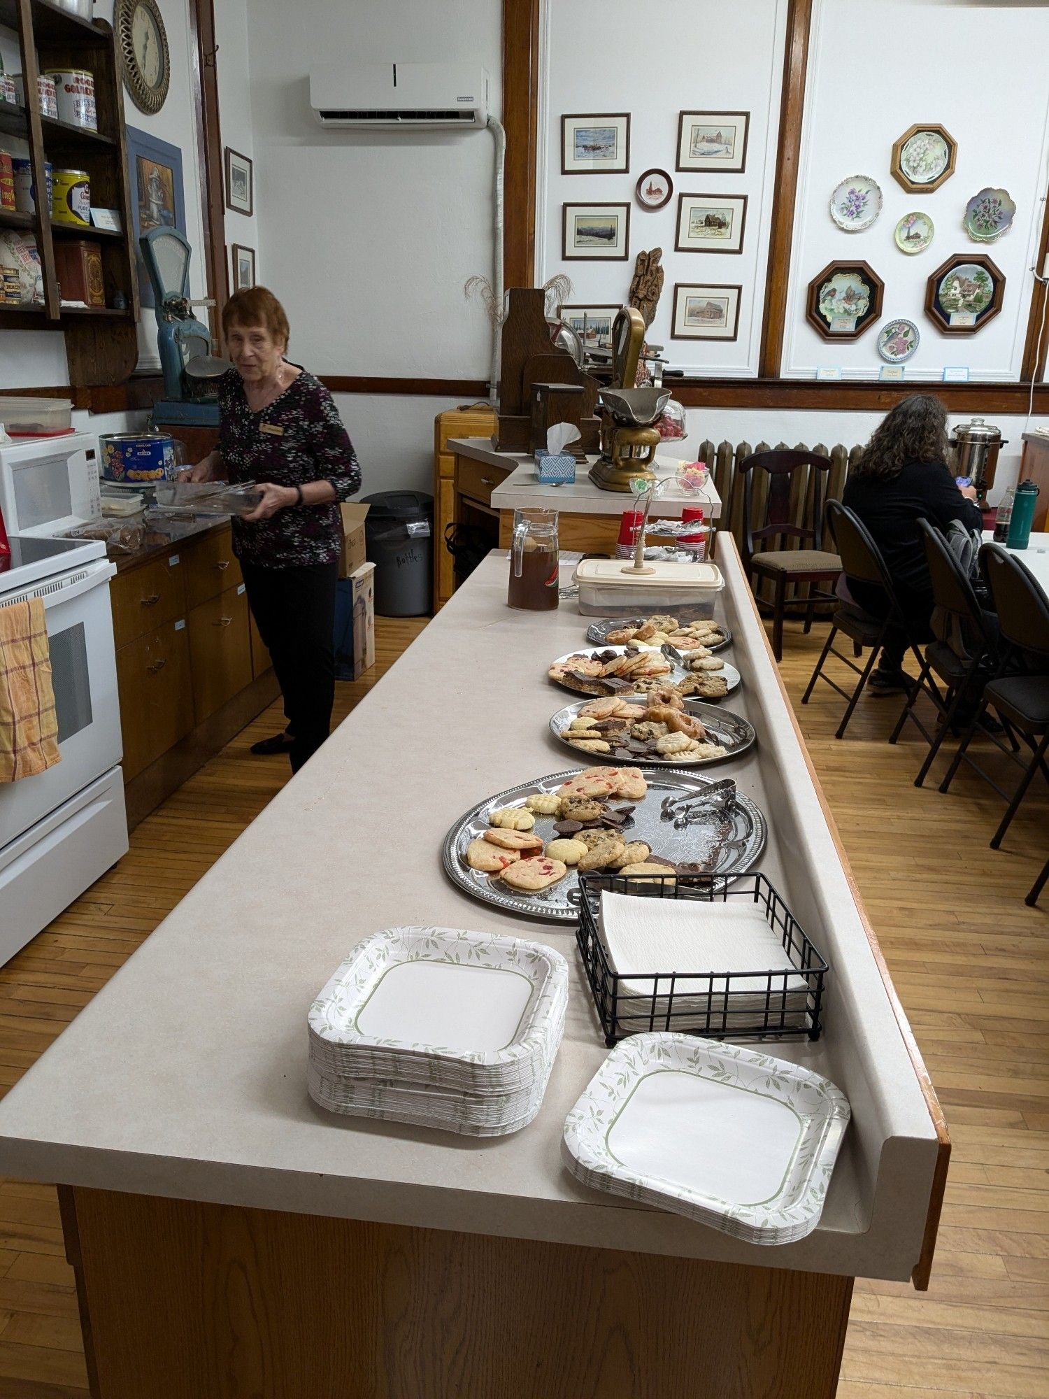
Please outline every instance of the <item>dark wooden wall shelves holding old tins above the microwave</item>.
M3 329L60 329L66 337L70 383L122 383L137 362L134 322L138 318L138 278L133 245L127 148L124 136L120 69L113 31L101 20L81 20L49 0L0 0L0 27L18 36L25 108L0 104L0 137L14 136L28 144L34 186L46 187L45 162L53 169L83 169L91 178L91 203L115 208L123 232L55 222L38 199L34 214L0 211L0 228L32 232L43 273L43 304L0 304ZM94 76L98 132L43 116L32 94L38 73L48 69L85 69ZM55 243L88 238L98 243L106 305L63 306L55 269ZM116 294L124 308L112 305Z

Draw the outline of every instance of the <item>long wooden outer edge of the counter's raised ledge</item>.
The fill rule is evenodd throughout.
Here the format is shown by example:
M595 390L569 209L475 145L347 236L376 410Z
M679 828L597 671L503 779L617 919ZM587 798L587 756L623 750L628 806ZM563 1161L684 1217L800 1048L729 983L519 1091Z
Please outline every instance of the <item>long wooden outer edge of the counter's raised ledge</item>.
M722 548L732 548L736 562L738 564L740 574L743 574L745 582L745 571L743 568L743 560L740 558L740 551L736 546L736 540L732 537L732 534L729 534L727 530L718 532L716 550L720 551ZM824 789L815 772L815 767L813 765L813 760L808 754L808 747L801 734L801 726L797 722L794 706L790 702L790 697L787 695L786 686L783 684L783 677L779 672L779 665L776 663L776 658L772 653L772 645L768 639L765 624L761 618L761 613L757 609L757 604L754 602L754 595L750 592L750 588L747 588L747 597L750 599L750 606L754 609L754 617L757 618L758 623L758 631L761 632L761 639L765 645L765 651L768 652L768 659L775 673L776 684L779 686L779 693L783 697L783 706L786 708L790 716L790 723L793 725L799 747L801 748L806 767L808 768L808 776L811 778L813 788L815 789L815 796L827 818L827 827L831 832L831 839L834 841L835 849L838 851L838 856L842 862L845 879L848 880L849 888L852 890L852 897L856 902L856 912L860 916L860 923L863 925L863 930L867 935L867 942L870 943L870 949L874 954L874 961L877 963L878 971L881 972L881 981L885 986L885 995L888 996L890 1004L892 1006L892 1014L897 1017L897 1024L899 1025L899 1032L904 1037L904 1044L906 1045L906 1052L911 1058L911 1065L915 1070L915 1076L918 1077L919 1087L922 1088L922 1095L925 1098L926 1108L929 1109L929 1118L936 1130L937 1157L936 1157L936 1167L933 1170L933 1188L929 1198L929 1213L926 1214L925 1234L922 1237L922 1252L919 1254L918 1263L911 1272L911 1281L918 1288L918 1291L927 1291L929 1277L933 1267L933 1252L936 1249L936 1235L940 1228L940 1214L943 1212L944 1191L947 1188L947 1165L951 1158L951 1137L947 1130L947 1118L944 1116L943 1107L940 1105L940 1100L936 1095L936 1088L933 1087L932 1076L929 1073L929 1069L926 1067L925 1059L922 1058L922 1051L918 1048L918 1041L915 1039L906 1014L904 1013L899 996L897 995L897 988L892 985L892 977L890 975L888 963L885 961L885 954L881 951L881 944L878 943L877 935L871 928L870 919L867 916L867 909L863 905L863 898L860 897L859 886L856 883L856 876L852 873L852 865L849 863L849 856L845 851L845 845L842 844L842 838L838 831L838 823L834 818L834 813L831 811L829 803L827 802L827 797L824 795Z

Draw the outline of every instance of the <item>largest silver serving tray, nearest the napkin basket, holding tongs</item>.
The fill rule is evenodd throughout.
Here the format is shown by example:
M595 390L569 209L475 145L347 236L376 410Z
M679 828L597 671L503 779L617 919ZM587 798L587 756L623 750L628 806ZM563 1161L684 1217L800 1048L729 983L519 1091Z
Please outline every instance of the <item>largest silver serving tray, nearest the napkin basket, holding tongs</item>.
M481 902L494 904L508 914L541 918L548 923L575 923L579 916L579 877L575 869L569 869L559 884L552 884L538 894L524 894L491 874L471 870L463 855L470 841L491 830L488 825L491 810L523 806L524 797L536 792L557 792L562 782L580 771L583 769L569 768L566 772L522 782L467 811L445 837L441 852L445 873L452 883ZM663 814L663 802L667 797L698 796L715 779L681 768L655 768L649 764L642 765L641 771L649 785L645 799L638 803L625 800L613 803L613 806L635 807L634 825L627 827L627 839L645 841L652 846L653 855L663 855L674 863L705 863L712 874L743 874L757 863L765 849L768 827L761 810L750 797L737 795L730 810L719 811L712 807L709 817L677 830L673 820ZM544 844L557 834L554 821L552 816L536 816L534 834Z

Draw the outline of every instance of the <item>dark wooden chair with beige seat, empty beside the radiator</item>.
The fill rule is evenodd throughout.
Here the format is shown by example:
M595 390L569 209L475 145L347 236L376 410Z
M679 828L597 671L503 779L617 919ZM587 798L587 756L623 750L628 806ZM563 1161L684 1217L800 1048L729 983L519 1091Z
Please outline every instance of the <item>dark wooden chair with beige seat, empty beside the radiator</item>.
M824 498L827 495L827 477L831 470L828 457L815 452L755 452L745 462L740 463L743 476L743 564L751 576L751 586L757 597L761 579L772 583L772 652L776 660L783 656L783 617L787 606L787 588L808 585L810 593L804 599L806 631L813 625L813 613L817 602L829 602L839 606L839 599L829 590L821 592L815 583L835 583L842 571L842 561L836 554L822 548L822 513ZM768 477L768 491L764 505L764 523L754 527L754 477L757 471L764 471ZM797 473L807 473L807 480L801 477L804 488L794 485ZM800 506L793 502L801 497ZM797 523L810 519L813 525ZM797 540L797 548L783 548L776 546L776 540ZM773 547L765 548L765 543ZM803 547L811 543L811 547ZM755 548L757 546L757 548ZM757 579L757 582L755 582ZM800 602L797 596L790 602ZM768 607L761 597L757 597L758 607Z

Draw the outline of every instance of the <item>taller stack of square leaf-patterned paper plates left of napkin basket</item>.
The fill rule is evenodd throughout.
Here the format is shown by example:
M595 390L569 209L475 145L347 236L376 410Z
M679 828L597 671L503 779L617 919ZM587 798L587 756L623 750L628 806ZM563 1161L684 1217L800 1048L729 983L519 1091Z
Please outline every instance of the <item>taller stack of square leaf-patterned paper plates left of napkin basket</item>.
M568 1004L551 947L390 928L309 1009L309 1093L331 1112L505 1136L538 1112Z

